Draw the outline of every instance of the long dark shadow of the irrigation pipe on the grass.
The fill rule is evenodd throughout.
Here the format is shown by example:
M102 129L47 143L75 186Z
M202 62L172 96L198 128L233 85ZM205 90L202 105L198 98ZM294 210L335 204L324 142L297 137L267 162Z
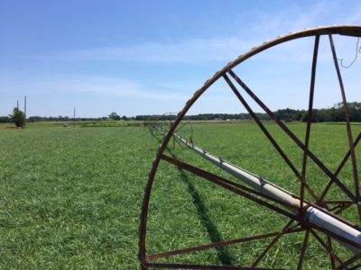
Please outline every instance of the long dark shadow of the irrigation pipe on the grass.
M171 149L168 148L169 153L171 154L171 157L177 158L173 153L171 153ZM181 180L187 184L188 192L190 193L193 204L197 209L199 220L201 224L204 226L205 229L207 229L210 241L212 243L223 241L221 234L218 231L217 225L209 218L207 207L202 202L199 192L197 191L194 184L191 183L190 178L188 175L181 169L180 167L177 167L180 172L180 178ZM227 251L226 247L216 247L217 254L218 254L218 260L223 266L230 266L232 265L232 257Z

